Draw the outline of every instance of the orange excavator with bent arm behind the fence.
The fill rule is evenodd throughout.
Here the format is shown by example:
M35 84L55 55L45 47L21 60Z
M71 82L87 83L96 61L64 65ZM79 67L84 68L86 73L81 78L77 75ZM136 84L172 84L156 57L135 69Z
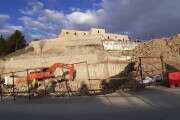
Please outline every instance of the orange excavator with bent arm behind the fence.
M47 68L36 68L28 73L27 79L35 87L38 81L51 78L54 81L73 81L76 70L73 64L55 63Z

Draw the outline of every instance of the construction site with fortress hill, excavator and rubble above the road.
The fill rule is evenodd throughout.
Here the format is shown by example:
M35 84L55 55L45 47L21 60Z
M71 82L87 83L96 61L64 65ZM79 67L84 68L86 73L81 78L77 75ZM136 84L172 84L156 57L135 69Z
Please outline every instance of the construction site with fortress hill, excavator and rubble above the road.
M58 38L32 41L1 59L1 101L178 87L179 40L140 42L105 29L63 29Z

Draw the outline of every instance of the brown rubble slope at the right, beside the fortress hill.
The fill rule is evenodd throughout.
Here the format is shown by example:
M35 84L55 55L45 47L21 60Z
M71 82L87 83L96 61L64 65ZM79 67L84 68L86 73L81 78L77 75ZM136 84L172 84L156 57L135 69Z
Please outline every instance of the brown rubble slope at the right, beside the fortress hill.
M169 38L153 39L141 43L134 50L133 60L138 57L160 57L169 68L180 70L180 35ZM170 67L171 66L171 67Z

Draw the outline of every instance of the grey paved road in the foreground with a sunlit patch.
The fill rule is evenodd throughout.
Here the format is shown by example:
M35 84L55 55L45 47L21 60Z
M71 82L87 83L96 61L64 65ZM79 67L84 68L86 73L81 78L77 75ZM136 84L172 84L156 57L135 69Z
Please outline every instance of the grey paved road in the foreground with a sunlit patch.
M0 103L0 120L180 120L180 89Z

